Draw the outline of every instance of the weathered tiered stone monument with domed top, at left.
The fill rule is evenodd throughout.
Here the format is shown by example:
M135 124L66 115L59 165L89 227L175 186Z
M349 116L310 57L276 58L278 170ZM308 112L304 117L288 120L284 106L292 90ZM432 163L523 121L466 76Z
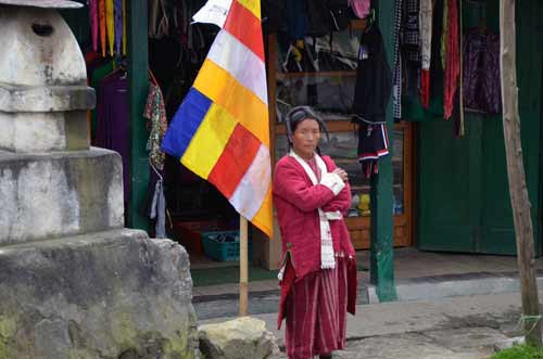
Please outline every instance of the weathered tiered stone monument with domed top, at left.
M0 359L193 359L187 252L123 229L121 156L89 148L94 92L48 7L80 4L0 0Z

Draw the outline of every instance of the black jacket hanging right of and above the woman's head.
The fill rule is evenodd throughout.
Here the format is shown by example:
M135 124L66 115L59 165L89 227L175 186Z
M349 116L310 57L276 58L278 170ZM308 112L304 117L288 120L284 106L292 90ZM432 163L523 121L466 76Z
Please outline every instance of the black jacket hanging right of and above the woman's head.
M392 90L392 74L384 43L377 24L362 35L354 91L353 114L363 121L386 121L386 110Z

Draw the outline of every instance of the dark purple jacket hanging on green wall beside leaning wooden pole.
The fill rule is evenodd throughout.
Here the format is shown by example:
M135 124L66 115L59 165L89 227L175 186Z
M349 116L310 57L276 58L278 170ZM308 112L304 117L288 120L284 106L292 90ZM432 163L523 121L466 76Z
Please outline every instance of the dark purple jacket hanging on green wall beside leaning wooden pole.
M478 29L464 36L464 101L470 110L502 111L500 36Z

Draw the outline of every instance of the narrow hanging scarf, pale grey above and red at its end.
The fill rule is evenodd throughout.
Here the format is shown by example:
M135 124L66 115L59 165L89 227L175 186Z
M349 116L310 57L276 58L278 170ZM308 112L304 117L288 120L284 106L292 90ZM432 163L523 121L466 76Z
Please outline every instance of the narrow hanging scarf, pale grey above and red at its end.
M430 105L430 63L432 53L433 0L420 0L420 95L422 106Z

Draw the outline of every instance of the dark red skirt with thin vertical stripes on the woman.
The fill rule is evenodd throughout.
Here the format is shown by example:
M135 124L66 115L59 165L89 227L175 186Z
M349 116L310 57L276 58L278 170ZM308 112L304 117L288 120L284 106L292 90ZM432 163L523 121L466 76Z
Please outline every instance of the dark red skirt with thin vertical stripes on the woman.
M310 359L345 347L348 261L338 258L334 269L313 272L291 285L285 306L289 359Z

